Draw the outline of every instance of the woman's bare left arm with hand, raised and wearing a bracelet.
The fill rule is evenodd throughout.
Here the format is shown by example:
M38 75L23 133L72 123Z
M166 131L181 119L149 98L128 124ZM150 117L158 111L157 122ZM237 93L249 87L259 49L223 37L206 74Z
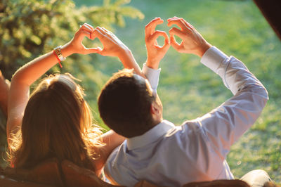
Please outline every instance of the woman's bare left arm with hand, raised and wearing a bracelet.
M81 43L84 37L91 37L92 31L93 27L91 27L91 25L86 23L82 25L75 33L74 38L60 48L62 56L67 57L72 53L97 53L100 49L87 49ZM23 65L15 72L15 75L13 75L8 96L8 143L10 142L11 133L15 133L21 127L23 113L30 96L30 85L58 62L60 62L58 55L52 51Z

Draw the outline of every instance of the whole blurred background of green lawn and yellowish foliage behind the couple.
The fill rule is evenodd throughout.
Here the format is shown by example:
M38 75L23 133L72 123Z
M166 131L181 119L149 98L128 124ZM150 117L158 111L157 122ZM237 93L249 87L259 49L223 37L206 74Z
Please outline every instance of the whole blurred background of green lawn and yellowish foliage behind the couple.
M261 117L234 144L227 161L237 178L252 169L264 169L280 183L281 43L253 1L2 0L0 70L11 79L21 65L70 41L84 22L112 30L142 66L146 60L145 25L161 17L165 22L157 29L168 32L166 19L175 15L190 22L210 44L242 60L268 89L270 100ZM164 39L160 37L158 41L163 44ZM94 44L84 39L84 44L101 45L97 39ZM122 69L122 64L117 58L91 54L73 55L63 66L60 69L57 65L47 74L70 72L81 79L96 122L107 129L98 115L96 98L112 73ZM232 96L221 79L200 64L197 56L170 48L160 67L157 92L162 98L164 119L175 124L200 117ZM2 141L2 152L4 144Z

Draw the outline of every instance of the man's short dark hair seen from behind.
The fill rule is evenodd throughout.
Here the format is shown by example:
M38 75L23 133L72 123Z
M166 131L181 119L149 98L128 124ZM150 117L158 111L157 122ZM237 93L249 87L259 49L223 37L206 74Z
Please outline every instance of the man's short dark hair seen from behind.
M113 75L98 97L100 117L117 134L131 138L153 127L150 105L155 101L148 82L124 69Z

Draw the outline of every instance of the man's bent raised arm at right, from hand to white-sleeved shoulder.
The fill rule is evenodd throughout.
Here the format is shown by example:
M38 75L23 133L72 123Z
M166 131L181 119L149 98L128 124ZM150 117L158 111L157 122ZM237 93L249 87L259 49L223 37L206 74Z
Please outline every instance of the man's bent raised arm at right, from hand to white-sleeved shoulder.
M211 46L183 18L170 18L168 26L174 24L181 27L181 30L174 27L169 31L171 46L181 53L193 53L202 57L201 62L216 72L234 95L218 108L196 120L204 139L210 141L216 153L225 158L230 146L261 114L268 100L268 93L240 60L228 57ZM176 42L174 35L183 39L181 44Z

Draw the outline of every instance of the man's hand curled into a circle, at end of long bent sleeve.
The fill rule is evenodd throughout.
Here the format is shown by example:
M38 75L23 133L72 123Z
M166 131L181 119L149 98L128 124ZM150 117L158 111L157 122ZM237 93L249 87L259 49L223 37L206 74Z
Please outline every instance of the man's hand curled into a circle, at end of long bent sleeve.
M190 25L190 23L183 18L174 17L169 18L167 21L169 27L171 27L171 25L178 25L178 27L181 28L181 30L179 30L178 28L173 27L169 30L171 46L173 46L176 51L180 53L192 53L202 58L204 53L211 47L211 44L209 44L201 34L195 30L195 27ZM174 35L183 40L181 41L181 44L176 42Z

